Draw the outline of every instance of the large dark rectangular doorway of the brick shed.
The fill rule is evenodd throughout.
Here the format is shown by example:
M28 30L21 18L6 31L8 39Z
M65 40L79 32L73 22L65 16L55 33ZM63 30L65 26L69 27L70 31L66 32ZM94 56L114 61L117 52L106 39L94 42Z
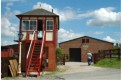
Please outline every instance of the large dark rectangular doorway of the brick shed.
M81 48L70 48L70 61L81 62Z

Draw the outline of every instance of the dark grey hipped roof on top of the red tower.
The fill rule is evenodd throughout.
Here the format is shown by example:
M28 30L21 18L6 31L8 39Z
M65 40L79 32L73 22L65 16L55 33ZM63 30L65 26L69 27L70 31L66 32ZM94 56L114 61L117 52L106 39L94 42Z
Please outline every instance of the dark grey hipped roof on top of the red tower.
M16 16L20 17L20 16L58 16L58 15L41 8L41 9L34 9Z

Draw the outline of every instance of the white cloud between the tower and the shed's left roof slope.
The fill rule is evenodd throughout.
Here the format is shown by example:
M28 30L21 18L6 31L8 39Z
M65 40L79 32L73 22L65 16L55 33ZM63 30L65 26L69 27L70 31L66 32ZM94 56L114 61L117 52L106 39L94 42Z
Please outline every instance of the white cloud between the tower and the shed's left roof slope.
M59 42L63 42L63 41L71 40L84 35L75 33L72 30L65 30L63 28L60 28L58 36L59 36Z

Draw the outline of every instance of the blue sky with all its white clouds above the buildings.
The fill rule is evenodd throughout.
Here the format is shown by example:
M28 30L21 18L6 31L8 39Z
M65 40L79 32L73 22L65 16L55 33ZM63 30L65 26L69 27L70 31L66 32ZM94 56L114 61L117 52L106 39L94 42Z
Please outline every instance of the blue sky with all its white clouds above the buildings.
M58 42L82 36L121 43L121 0L1 0L1 45L15 44L15 16L44 8L60 17ZM40 6L41 5L41 6Z

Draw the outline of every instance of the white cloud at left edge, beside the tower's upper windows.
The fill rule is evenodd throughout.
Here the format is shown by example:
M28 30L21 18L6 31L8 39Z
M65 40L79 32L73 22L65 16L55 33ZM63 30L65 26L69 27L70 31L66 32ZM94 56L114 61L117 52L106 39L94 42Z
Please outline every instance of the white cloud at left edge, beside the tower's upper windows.
M15 24L10 23L10 21L2 17L1 18L1 36L14 36L14 32L16 31Z

